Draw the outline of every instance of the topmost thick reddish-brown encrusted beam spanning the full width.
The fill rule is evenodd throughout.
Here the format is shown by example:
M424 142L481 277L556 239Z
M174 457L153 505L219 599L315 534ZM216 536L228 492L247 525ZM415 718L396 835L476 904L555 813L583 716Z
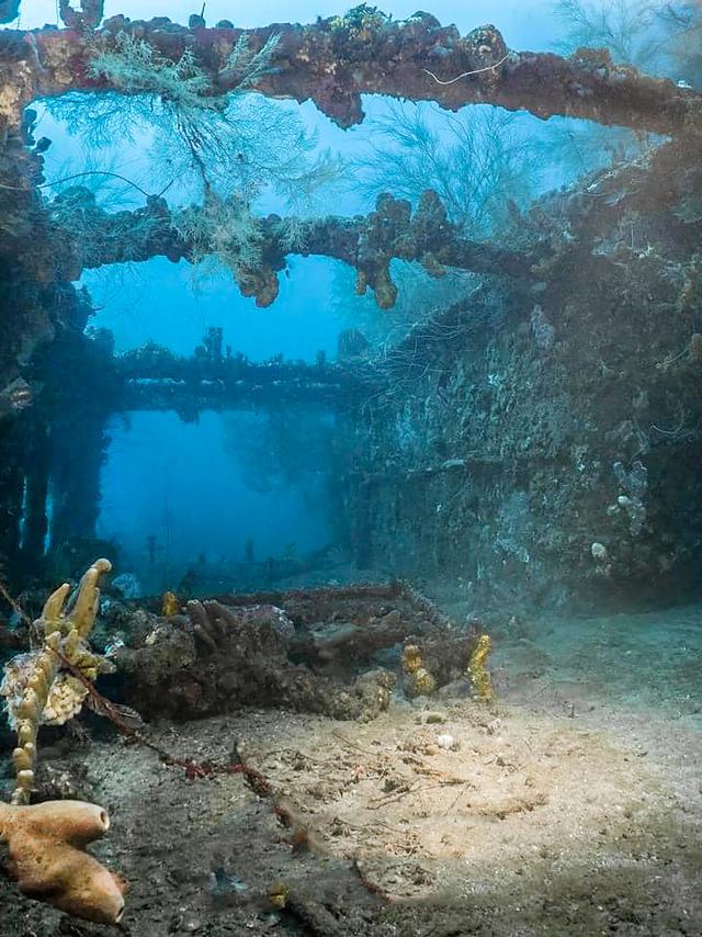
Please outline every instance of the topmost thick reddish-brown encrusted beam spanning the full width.
M3 31L0 118L16 125L19 106L37 95L110 87L104 78L90 77L91 49L95 39L109 46L126 31L170 59L191 47L217 94L238 81L239 76L224 68L237 39L245 34L250 48L258 50L276 34L275 70L258 82L258 90L313 100L343 127L363 120L361 94L437 101L450 110L487 102L543 118L585 117L664 135L700 126L699 92L615 66L603 50L580 50L569 58L512 53L494 26L462 36L455 26L442 26L427 13L395 21L367 7L310 25L283 23L250 31L228 22L205 29L199 16L191 21L193 29L166 18L132 22L113 16L97 33Z

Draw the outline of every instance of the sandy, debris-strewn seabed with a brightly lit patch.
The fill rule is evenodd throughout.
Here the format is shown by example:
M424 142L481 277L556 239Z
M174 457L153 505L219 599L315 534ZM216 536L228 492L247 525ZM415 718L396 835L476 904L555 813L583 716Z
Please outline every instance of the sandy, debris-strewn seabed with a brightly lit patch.
M118 740L53 767L82 761L112 813L95 851L129 883L126 935L701 935L699 622L512 622L495 707L149 729L179 757L240 753L265 792ZM2 937L114 933L0 898Z

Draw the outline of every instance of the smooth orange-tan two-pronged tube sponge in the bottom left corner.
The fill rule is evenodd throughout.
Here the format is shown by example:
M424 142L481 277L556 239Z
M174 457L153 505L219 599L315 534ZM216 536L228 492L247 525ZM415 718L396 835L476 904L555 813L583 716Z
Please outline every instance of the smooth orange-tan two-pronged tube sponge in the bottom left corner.
M92 803L0 803L0 840L8 844L10 874L24 894L100 924L120 922L125 884L82 847L109 827L106 811Z

